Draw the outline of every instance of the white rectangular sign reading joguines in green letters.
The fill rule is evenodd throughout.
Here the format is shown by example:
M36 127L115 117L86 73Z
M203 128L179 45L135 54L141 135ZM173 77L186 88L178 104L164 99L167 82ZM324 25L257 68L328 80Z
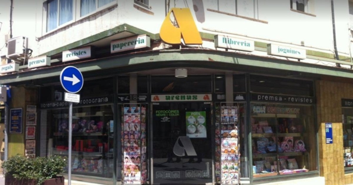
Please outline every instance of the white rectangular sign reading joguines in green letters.
M290 57L290 58L298 58L298 59L306 58L305 49L287 47L287 46L282 46L277 44L267 44L267 54Z

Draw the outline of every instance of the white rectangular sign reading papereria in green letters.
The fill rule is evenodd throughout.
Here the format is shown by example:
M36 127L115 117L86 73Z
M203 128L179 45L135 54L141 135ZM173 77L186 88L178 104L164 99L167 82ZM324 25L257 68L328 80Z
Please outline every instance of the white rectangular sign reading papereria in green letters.
M110 53L117 53L120 51L151 47L151 39L147 35L139 35L112 41L110 43Z

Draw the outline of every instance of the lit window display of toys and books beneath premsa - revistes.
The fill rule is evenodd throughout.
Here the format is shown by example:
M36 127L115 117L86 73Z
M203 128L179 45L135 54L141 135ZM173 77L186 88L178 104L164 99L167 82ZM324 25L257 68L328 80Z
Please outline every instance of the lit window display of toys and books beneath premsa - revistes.
M313 106L252 104L253 177L317 170Z

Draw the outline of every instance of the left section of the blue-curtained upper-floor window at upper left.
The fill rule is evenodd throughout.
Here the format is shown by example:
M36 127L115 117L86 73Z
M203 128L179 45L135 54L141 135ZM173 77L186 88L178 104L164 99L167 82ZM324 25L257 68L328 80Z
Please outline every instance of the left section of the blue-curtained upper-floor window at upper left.
M47 7L47 31L73 19L73 0L51 0Z

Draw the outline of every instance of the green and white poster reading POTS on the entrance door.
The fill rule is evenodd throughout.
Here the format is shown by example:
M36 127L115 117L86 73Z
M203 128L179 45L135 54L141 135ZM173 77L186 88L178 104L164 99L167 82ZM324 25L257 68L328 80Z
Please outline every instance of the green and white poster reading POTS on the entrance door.
M186 135L190 138L206 138L206 112L185 112Z

